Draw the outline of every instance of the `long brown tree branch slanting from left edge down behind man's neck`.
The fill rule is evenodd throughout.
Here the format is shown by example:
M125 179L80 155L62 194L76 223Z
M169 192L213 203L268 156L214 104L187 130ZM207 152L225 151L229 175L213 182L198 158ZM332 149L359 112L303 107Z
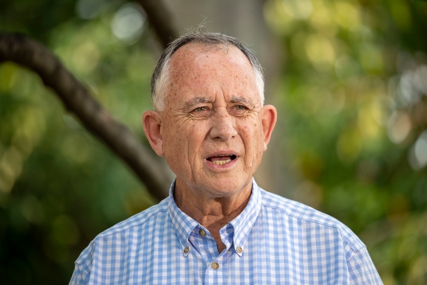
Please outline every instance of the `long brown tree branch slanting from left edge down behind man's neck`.
M148 150L41 44L23 35L0 33L0 63L3 61L34 70L66 109L135 172L151 195L159 200L167 196L170 181Z

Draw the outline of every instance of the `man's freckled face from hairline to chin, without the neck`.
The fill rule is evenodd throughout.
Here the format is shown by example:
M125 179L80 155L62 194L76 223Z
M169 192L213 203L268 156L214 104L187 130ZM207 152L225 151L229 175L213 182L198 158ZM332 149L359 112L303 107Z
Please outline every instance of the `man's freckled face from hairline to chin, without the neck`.
M268 139L247 57L235 47L207 51L191 43L171 57L170 70L157 152L176 174L176 187L209 197L251 187Z

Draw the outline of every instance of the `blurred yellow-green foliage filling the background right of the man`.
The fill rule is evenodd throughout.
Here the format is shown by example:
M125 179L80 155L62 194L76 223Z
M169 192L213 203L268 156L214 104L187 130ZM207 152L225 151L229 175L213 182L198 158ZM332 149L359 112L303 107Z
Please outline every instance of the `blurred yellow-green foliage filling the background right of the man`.
M368 245L387 285L427 283L427 2L268 0L282 39L272 97L295 198Z

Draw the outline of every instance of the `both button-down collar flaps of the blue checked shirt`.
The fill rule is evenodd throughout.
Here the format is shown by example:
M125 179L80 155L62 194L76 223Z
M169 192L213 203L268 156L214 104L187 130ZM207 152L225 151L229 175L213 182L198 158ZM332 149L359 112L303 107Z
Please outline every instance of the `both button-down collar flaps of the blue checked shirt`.
M190 248L188 237L191 231L196 228L199 223L182 212L175 203L173 199L173 189L175 188L175 180L170 185L169 189L169 203L168 203L168 212L169 217L172 221L173 227L176 229L179 242L183 250L185 248ZM228 225L224 227L229 227L231 225L234 229L233 236L233 246L238 255L242 255L243 249L248 239L249 233L251 232L255 221L258 218L258 215L261 210L261 190L258 187L255 179L252 179L252 193L251 198L249 199L248 204L242 213L240 213L236 218L234 218ZM186 255L188 254L188 251Z

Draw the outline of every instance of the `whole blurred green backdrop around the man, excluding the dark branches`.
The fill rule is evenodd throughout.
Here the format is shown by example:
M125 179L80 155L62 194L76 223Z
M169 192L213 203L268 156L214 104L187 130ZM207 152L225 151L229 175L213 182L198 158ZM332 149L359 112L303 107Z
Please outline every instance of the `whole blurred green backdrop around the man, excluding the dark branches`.
M279 120L259 184L348 225L385 285L426 284L427 2L162 2L265 67ZM139 2L0 1L0 31L45 45L147 147L153 30ZM37 74L0 64L0 284L67 284L97 233L157 202Z

